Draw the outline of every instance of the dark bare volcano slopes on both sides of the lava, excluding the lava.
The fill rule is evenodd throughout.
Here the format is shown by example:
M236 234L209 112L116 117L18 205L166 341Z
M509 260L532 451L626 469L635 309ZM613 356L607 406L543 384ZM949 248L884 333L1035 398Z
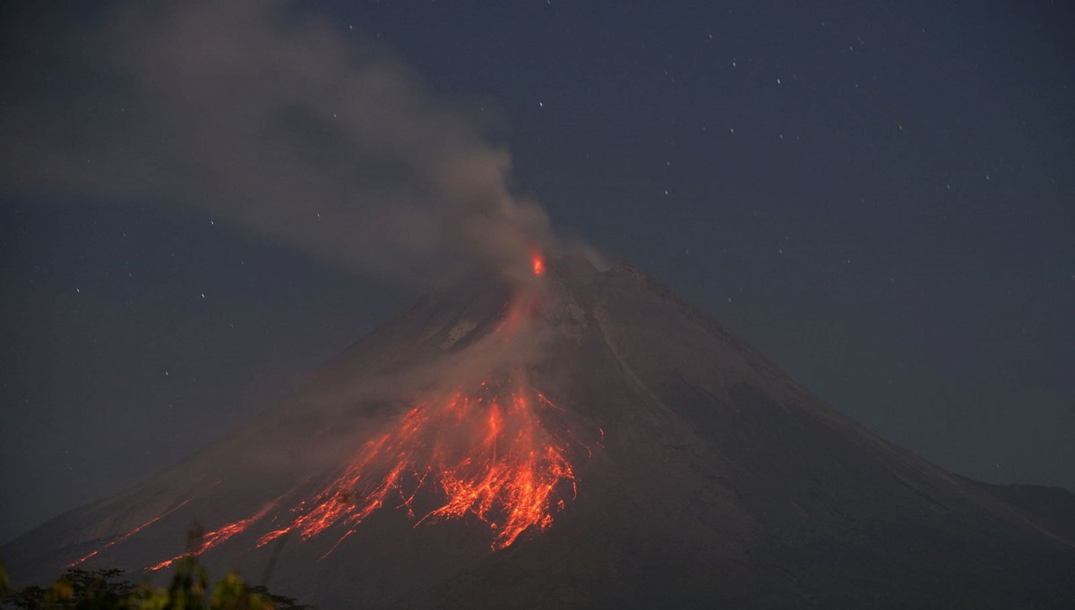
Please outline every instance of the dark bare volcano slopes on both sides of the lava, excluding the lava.
M415 527L386 507L324 560L329 541L288 540L274 589L324 607L1075 600L1063 578L1075 573L1075 548L1056 520L854 422L637 270L577 259L547 270L528 314L540 340L520 362L563 411L543 411L543 425L577 437L577 497L559 498L547 529L496 552L473 515ZM483 351L511 318L510 292L474 278L442 286L233 436L6 544L13 576L20 564L55 570L49 557L73 561L175 510L101 553L137 568L174 554L182 540L163 552L169 527L263 510L286 491L282 481L325 469L348 442L392 425L400 411L386 388L426 391L412 374L452 371L460 354L518 358ZM254 534L205 561L259 573L269 550L254 547Z

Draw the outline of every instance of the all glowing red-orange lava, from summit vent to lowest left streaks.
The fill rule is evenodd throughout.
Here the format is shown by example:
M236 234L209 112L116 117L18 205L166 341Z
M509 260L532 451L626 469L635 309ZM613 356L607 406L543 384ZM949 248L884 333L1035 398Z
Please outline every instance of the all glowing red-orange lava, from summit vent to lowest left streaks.
M534 275L545 273L540 252L531 255L531 262ZM539 296L533 287L517 292L505 304L488 340L479 342L470 353L489 358L497 353L489 349L503 350L504 360L511 360L516 350L534 345ZM468 362L470 355L458 358ZM493 368L499 373L484 382L464 383L412 404L357 447L335 474L307 479L319 482L303 483L245 519L217 526L196 539L187 553L146 570L166 568L186 555L200 555L252 528L259 534L259 548L290 534L309 540L331 531L335 542L325 553L328 555L386 506L405 512L414 527L467 519L483 523L494 551L511 546L527 531L546 529L554 513L564 510L577 493L569 461L572 448L592 452L569 427L546 425L562 422L567 411L520 382L522 367L517 362ZM601 436L603 440L603 431ZM598 445L603 446L601 441ZM291 506L289 511L280 510L286 506L285 499ZM188 502L100 550L129 539Z

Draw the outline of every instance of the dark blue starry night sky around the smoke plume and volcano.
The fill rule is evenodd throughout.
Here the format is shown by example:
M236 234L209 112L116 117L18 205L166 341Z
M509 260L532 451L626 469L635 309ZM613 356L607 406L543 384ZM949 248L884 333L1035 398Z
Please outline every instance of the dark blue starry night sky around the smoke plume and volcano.
M227 86L189 97L201 73L183 62L117 60L105 42L125 10L8 3L0 14L0 539L219 437L429 279L348 264L381 238L362 214L333 223L332 238L357 235L342 250L320 248L316 228L277 238L236 220L216 185L247 183L229 181L238 165L209 148L273 142L214 128L203 160L161 135L228 125L216 113L247 106ZM300 42L361 47L406 67L453 113L492 117L483 136L511 150L512 187L559 233L671 286L883 436L962 475L1075 490L1070 6L348 1L263 12L272 27L225 26L287 52L274 37L313 19L320 38ZM204 24L205 41L231 35L216 26ZM148 38L140 44L168 42ZM141 96L139 78L167 97ZM234 99L256 90L243 86ZM378 108L367 99L350 112ZM415 131L439 129L439 112ZM327 125L300 116L286 133L335 151ZM117 158L115 133L133 161L100 161ZM438 137L456 142L453 130ZM73 150L89 166L77 175L60 158ZM250 184L271 183L273 162ZM310 187L282 204L288 214L326 198L347 209L338 174L291 169ZM422 266L428 252L411 255Z

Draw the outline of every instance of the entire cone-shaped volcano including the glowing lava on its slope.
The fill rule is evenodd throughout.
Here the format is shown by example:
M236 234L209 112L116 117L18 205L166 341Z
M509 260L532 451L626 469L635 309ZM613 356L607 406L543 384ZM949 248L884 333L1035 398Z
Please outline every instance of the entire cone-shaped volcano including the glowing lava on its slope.
M445 282L13 578L186 549L321 608L1075 607L1072 494L946 473L637 271L533 272Z

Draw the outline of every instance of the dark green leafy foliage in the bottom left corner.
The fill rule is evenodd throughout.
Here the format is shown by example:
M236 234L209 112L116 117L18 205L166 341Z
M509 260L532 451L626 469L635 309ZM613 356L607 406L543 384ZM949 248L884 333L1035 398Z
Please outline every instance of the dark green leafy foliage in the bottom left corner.
M192 556L175 563L168 586L131 584L123 570L68 569L47 587L12 591L0 566L0 607L25 610L304 610L290 597L250 586L230 571L212 587L209 572Z

